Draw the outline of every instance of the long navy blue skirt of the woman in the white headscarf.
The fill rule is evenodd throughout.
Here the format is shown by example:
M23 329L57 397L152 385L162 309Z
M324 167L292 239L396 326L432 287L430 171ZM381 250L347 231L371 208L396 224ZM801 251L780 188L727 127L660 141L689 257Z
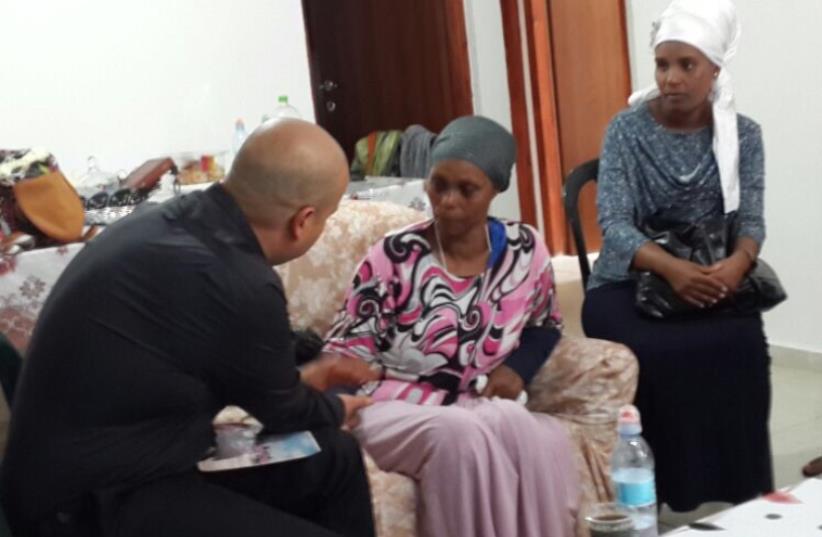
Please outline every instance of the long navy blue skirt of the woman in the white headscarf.
M773 489L770 356L759 314L644 317L634 284L589 290L588 337L617 341L639 360L636 405L656 458L659 503L690 511Z

